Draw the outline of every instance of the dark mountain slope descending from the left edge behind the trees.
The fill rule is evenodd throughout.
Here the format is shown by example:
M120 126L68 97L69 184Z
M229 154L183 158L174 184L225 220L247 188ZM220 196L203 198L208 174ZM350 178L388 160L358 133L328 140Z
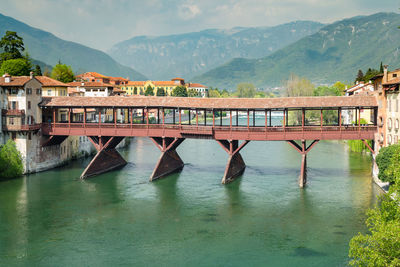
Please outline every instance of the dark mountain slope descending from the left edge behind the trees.
M0 14L0 34L16 31L24 39L29 55L45 64L54 66L61 60L76 73L95 71L110 76L143 80L145 76L132 68L117 63L109 55L87 46L62 40L53 34L33 28L11 17Z

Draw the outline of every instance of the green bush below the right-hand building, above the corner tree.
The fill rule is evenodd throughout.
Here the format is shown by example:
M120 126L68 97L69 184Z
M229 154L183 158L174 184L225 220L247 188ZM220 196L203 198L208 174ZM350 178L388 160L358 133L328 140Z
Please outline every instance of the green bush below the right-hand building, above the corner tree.
M376 156L376 164L379 167L379 179L384 182L393 182L393 171L390 166L392 164L392 159L400 154L400 145L391 145L388 147L382 147L379 150L378 156ZM397 163L399 166L400 164Z

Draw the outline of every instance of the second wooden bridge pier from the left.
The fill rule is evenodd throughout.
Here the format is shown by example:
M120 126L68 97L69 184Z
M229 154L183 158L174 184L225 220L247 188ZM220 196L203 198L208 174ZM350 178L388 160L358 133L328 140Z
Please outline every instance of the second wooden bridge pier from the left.
M184 163L176 152L176 148L185 138L150 137L150 139L161 151L160 159L150 176L150 181L163 178L171 173L182 170Z

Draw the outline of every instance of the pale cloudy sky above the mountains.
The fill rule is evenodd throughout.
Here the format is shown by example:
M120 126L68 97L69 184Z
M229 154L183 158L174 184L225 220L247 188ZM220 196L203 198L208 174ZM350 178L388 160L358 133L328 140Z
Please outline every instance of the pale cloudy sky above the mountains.
M3 15L103 51L139 35L331 23L399 8L398 0L0 0Z

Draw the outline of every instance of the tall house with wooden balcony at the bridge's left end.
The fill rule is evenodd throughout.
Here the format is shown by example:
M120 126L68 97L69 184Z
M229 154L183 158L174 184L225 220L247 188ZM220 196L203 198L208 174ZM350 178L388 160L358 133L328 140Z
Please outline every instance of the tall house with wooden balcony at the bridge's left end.
M59 146L42 147L40 133L42 111L42 84L31 76L3 75L0 78L3 92L3 141L12 139L21 153L24 172L36 172L60 164Z

